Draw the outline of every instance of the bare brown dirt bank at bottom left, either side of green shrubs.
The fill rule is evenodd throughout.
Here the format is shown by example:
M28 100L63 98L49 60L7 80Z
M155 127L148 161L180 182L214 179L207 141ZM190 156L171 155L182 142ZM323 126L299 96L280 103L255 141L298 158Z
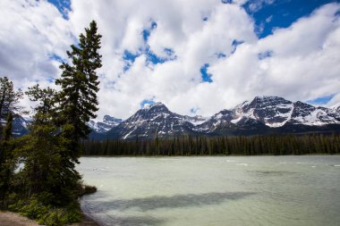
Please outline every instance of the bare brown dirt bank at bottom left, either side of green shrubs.
M0 211L0 222L2 226L38 226L38 222L30 220L29 218L22 216L20 213L14 213L10 211ZM67 224L69 226L100 226L98 222L95 222L86 213L82 212L81 222Z

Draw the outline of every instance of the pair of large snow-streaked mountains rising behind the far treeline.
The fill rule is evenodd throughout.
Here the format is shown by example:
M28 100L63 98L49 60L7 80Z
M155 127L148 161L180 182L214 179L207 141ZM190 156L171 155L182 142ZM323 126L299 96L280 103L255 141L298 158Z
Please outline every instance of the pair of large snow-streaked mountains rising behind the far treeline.
M105 138L154 138L177 135L258 135L340 131L338 108L316 107L278 96L256 96L209 118L172 113L157 103L102 134Z

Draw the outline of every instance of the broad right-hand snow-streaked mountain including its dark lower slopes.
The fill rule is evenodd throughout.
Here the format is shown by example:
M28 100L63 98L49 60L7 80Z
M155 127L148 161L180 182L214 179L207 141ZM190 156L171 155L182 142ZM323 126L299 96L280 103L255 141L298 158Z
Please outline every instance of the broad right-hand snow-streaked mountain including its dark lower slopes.
M325 131L334 125L340 129L340 111L337 109L315 107L300 101L293 103L277 96L256 96L251 102L213 115L196 130L214 135L251 135Z

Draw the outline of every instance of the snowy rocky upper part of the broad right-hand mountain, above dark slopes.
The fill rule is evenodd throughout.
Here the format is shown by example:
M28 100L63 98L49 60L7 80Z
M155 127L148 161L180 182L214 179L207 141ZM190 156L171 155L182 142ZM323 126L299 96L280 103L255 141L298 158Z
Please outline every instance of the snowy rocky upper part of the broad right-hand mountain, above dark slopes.
M221 128L245 125L281 128L287 125L325 126L328 124L340 124L340 112L337 109L315 107L300 101L293 103L277 96L256 96L251 102L246 101L234 109L223 110L213 115L196 130L209 133Z

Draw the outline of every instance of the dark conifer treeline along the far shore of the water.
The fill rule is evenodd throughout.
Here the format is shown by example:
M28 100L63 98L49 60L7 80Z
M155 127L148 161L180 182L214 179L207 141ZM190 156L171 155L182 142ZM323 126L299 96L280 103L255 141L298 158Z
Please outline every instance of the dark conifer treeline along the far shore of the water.
M85 140L84 155L308 155L339 154L340 135L191 137Z

